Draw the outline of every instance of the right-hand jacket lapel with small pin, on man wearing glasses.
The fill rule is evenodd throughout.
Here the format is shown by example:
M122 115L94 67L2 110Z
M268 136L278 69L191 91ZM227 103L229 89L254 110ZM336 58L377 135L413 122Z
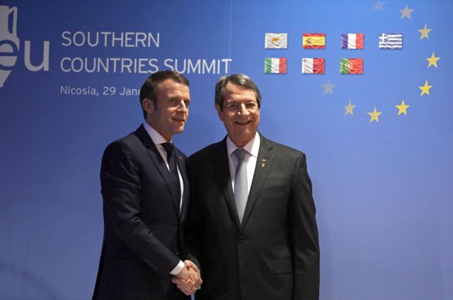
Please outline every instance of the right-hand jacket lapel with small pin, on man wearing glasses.
M270 145L268 140L260 134L260 150L258 151L255 173L253 174L252 185L250 192L248 193L248 200L242 218L241 229L246 226L248 218L250 218L253 207L256 204L256 200L258 200L260 191L263 188L263 184L265 183L266 178L268 178L270 169L275 161L275 154L270 151L271 149L272 145Z

